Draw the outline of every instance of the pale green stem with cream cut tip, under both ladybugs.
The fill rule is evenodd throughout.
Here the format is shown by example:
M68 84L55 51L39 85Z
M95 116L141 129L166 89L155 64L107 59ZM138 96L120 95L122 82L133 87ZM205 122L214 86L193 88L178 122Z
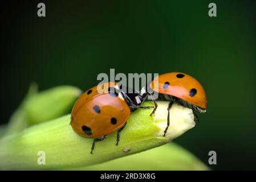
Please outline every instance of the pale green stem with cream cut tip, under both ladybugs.
M116 132L97 142L94 154L90 154L92 139L77 135L70 123L70 115L49 122L31 126L20 133L0 140L0 169L64 169L90 166L145 151L170 142L194 127L191 109L173 104L170 109L170 127L166 137L162 137L166 127L168 102L159 105L154 117L152 109L139 109L132 113L128 124L120 134L119 146L115 146ZM153 105L145 102L144 105ZM130 151L124 152L125 148ZM39 151L46 154L46 164L39 165Z

